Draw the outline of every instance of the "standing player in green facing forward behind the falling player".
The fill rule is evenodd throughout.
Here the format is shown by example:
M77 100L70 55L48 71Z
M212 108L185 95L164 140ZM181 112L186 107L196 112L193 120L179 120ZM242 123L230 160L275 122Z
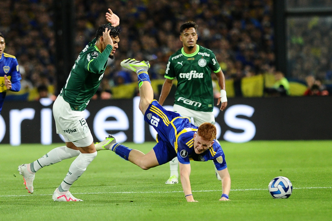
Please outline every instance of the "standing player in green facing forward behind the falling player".
M194 124L200 126L204 122L215 124L213 111L213 86L211 72L213 71L218 79L220 97L217 105L221 102L220 110L227 106L225 91L225 76L221 71L214 53L196 44L198 39L197 24L186 22L180 27L180 40L183 48L172 54L168 60L165 72L159 104L163 104L173 85L174 78L177 79L177 90L173 111L183 117L193 117ZM166 184L178 183L179 161L174 158L170 161L170 178ZM220 177L215 168L217 179Z

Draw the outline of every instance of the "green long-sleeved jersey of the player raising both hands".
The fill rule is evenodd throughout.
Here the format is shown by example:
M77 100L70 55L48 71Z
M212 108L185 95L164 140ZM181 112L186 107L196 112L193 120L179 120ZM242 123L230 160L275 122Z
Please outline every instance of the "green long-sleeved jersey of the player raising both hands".
M60 96L70 104L72 110L83 111L86 108L104 76L112 46L107 45L101 53L95 43L96 38L78 55L66 85L61 89Z

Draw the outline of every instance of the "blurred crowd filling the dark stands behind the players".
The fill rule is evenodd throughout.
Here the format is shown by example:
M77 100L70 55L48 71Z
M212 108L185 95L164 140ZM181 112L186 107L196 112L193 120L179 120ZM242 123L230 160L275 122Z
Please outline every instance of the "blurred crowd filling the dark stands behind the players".
M137 81L120 61L128 57L149 60L151 80L164 79L169 56L182 47L179 26L195 21L197 43L211 49L225 75L241 96L241 79L275 72L273 0L75 0L75 51L78 55L105 24L105 13L120 17L122 45L116 62L109 62L101 91L112 97L115 86ZM294 1L290 1L292 3ZM56 91L55 33L53 0L4 0L1 3L0 31L6 38L6 53L17 57L22 75L22 99L54 98ZM293 22L289 29L289 59L292 79L305 81L309 75L331 80L331 23ZM308 26L311 25L311 30ZM323 39L323 41L319 41ZM69 73L68 73L69 74ZM214 75L213 75L214 76ZM48 88L48 94L39 93ZM39 88L39 89L38 89ZM227 88L226 88L227 90ZM106 92L106 93L103 93ZM133 94L134 95L134 94Z

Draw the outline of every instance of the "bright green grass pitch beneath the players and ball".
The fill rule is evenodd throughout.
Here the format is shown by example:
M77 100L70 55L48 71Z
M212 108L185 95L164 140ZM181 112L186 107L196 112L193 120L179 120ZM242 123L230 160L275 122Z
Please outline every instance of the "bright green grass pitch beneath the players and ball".
M0 145L0 220L331 220L332 141L220 142L232 179L229 198L218 201L221 183L211 161L192 162L198 203L187 203L181 184L165 185L169 164L144 171L114 152L99 151L70 191L83 202L54 202L52 193L73 159L42 168L27 193L17 166L63 145ZM153 142L124 143L147 153ZM268 184L285 176L288 199L273 199Z

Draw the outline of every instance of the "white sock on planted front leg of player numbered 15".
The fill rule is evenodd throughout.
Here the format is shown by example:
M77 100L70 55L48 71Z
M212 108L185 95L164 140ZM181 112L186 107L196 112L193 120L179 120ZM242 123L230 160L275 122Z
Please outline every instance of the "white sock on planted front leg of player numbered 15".
M96 156L97 151L94 153L81 153L78 155L78 157L76 157L76 159L71 163L66 177L60 184L59 190L69 190L71 185L84 173L86 168ZM61 190L60 192L63 192Z

